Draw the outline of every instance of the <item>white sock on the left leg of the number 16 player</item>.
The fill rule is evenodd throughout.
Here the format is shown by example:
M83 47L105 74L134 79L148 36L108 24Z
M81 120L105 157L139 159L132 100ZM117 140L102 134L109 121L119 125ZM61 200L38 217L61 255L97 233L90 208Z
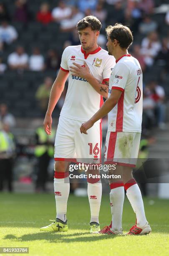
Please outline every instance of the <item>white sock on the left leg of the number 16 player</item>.
M70 192L69 177L63 179L54 178L54 191L56 201L56 218L66 221L67 202Z

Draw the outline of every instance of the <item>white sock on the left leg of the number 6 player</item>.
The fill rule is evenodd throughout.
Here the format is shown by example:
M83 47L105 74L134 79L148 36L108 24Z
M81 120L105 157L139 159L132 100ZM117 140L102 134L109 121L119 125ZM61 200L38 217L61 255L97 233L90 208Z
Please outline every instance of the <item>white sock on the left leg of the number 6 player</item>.
M110 191L112 229L119 231L122 228L122 213L124 203L124 186L116 187Z

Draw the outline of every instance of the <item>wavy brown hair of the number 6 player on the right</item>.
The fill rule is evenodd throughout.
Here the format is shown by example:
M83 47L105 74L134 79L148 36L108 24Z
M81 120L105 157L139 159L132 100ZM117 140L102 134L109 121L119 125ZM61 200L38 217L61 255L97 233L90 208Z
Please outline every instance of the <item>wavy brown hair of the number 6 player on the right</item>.
M116 23L114 26L108 26L106 28L106 33L111 41L116 39L121 48L128 49L133 42L133 35L130 28L122 25L121 23Z

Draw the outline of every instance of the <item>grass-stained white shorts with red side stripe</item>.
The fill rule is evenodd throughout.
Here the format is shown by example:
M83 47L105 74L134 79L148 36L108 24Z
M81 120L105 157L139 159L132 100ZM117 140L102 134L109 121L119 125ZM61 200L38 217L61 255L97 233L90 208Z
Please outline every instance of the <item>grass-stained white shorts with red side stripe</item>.
M141 133L107 132L104 163L135 167Z

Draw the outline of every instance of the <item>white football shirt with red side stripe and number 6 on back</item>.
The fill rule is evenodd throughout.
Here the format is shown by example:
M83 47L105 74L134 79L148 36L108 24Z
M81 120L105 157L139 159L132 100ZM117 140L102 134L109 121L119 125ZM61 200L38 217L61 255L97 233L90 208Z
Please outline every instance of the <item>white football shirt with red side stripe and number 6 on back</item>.
M109 80L111 90L121 90L116 106L108 113L108 131L141 133L143 82L139 61L130 54L121 56Z

